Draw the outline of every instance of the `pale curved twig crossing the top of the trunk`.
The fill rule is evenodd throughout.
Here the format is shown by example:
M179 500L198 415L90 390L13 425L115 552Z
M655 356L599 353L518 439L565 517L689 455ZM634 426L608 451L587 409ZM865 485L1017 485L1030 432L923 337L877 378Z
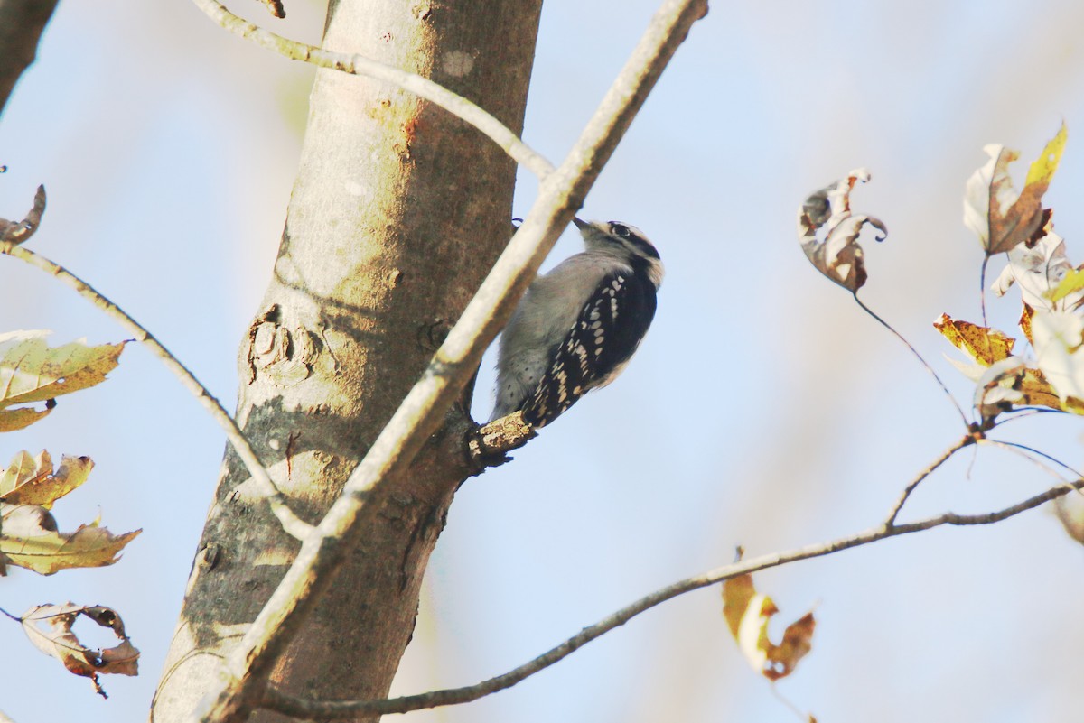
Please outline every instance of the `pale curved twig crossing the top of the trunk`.
M440 106L456 118L477 128L504 153L508 154L513 160L530 170L539 179L544 179L554 171L553 163L524 143L507 126L462 95L453 93L428 78L378 63L364 55L336 53L298 40L284 38L234 15L218 0L193 0L193 2L219 27L240 38L251 40L260 48L274 51L292 61L383 80Z

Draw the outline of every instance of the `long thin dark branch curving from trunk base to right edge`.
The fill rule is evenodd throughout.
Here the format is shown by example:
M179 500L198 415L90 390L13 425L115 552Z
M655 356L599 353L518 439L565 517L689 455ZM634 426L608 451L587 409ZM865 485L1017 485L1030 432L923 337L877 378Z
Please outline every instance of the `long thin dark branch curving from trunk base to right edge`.
M852 535L850 537L843 537L830 542L813 544L788 552L762 555L760 557L753 557L744 562L734 563L733 565L718 567L702 575L691 577L662 588L661 590L657 590L656 592L637 600L632 605L621 608L606 618L603 618L598 622L588 626L560 645L540 655L530 662L519 666L518 668L495 678L478 683L477 685L433 691L430 693L403 696L388 700L335 701L308 700L286 695L285 693L274 688L268 688L263 694L261 706L294 718L340 720L354 715L386 715L388 713L405 713L412 710L422 710L424 708L437 708L440 706L453 706L457 704L470 702L472 700L477 700L492 693L496 693L498 691L512 687L540 670L556 663L586 643L590 643L610 630L624 625L641 613L644 613L645 610L648 610L686 592L706 588L708 586L722 582L723 580L737 577L738 575L746 575L748 573L756 573L771 567L778 567L779 565L786 565L801 560L823 557L841 550L870 544L890 537L911 535L913 533L933 529L944 525L990 525L1018 515L1021 512L1037 508L1041 504L1058 499L1059 497L1062 497L1073 490L1079 490L1082 487L1084 487L1084 479L1077 479L1073 483L1051 487L1040 495L1035 495L1034 497L1030 497L1021 502L1018 502L1017 504L996 512L976 515L960 515L953 512L946 512L937 517L929 517L927 520L906 523L903 525L883 524L874 529L859 533L857 535Z

